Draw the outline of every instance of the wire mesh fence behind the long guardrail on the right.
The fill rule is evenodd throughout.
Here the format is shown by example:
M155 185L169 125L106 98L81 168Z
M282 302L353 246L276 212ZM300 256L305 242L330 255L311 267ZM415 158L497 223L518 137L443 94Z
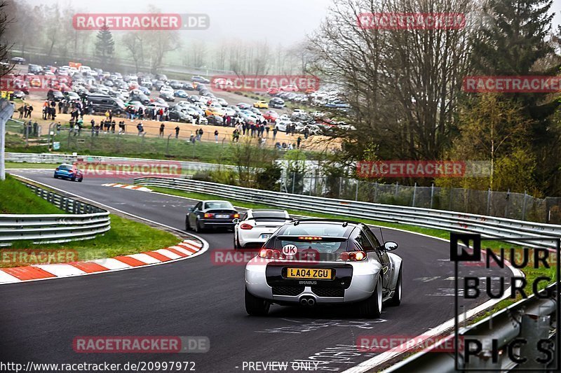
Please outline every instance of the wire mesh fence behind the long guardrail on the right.
M532 197L526 193L438 188L373 183L355 178L330 177L319 169L283 177L285 192L317 197L352 199L379 204L475 213L515 220L561 224L561 198Z

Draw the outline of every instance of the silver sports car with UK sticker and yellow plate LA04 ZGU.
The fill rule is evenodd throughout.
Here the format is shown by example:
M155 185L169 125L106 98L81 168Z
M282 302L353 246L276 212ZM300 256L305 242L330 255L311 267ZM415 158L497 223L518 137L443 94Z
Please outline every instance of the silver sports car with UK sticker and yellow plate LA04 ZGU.
M306 219L283 225L245 266L245 310L264 316L271 304L354 303L377 318L382 304L401 302L402 260L369 227Z

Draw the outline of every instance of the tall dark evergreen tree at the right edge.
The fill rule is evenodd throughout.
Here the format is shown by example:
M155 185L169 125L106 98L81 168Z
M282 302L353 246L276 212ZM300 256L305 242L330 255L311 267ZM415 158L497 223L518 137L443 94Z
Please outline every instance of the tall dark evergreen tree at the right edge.
M555 75L560 71L559 47L551 35L553 0L487 1L489 20L474 38L473 62L481 75L527 76ZM559 29L557 30L560 31ZM557 43L557 44L556 44ZM536 183L546 195L561 193L561 128L553 120L560 101L543 93L504 94L520 104L522 115L530 122L528 151L540 165L534 173Z

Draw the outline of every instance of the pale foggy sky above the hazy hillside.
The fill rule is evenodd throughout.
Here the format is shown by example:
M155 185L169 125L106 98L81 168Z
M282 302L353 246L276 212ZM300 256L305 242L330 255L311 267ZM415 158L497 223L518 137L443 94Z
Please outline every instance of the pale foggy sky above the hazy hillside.
M15 0L17 1L17 0ZM90 13L144 13L153 4L163 13L206 13L207 30L180 31L183 39L267 41L290 46L304 41L327 15L334 0L27 0L32 5L72 4ZM561 24L561 0L552 6L554 25ZM72 22L69 20L68 22Z

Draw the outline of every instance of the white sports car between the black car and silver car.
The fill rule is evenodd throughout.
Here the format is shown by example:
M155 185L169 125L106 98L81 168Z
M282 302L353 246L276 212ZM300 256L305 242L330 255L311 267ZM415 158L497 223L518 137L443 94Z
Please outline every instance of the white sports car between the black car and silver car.
M252 209L235 220L234 248L261 247L271 235L292 220L285 210Z

